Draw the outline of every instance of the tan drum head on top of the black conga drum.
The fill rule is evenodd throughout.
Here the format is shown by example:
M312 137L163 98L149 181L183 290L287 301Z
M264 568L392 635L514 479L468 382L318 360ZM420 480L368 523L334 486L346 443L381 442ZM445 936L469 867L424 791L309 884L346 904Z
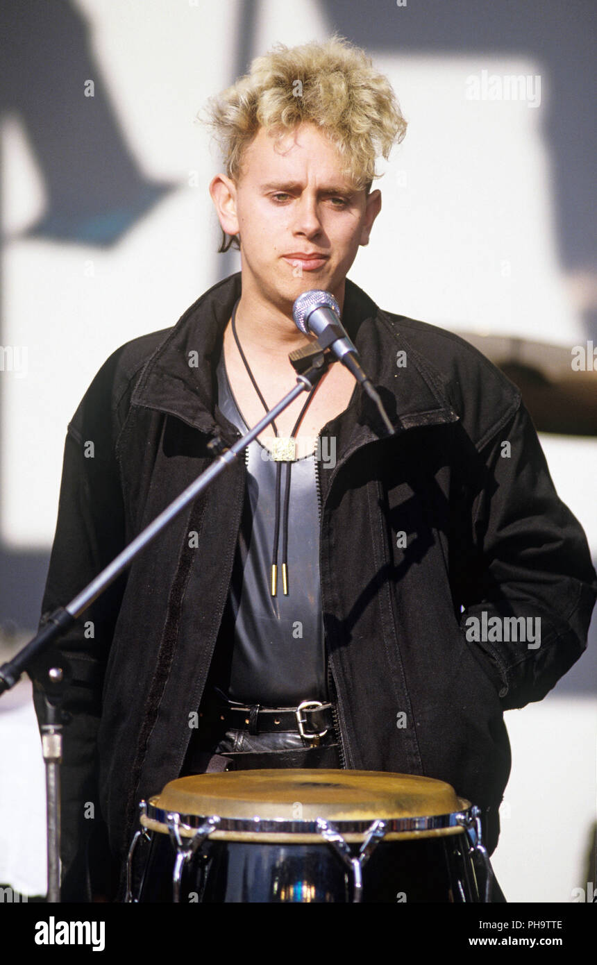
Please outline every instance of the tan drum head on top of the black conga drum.
M453 826L448 815L470 807L445 782L414 774L324 769L224 771L171 781L161 794L149 799L148 816L153 821L146 818L143 823L152 826L154 821L163 822L166 813L176 813L181 823L196 825L189 818L217 814L229 819L229 828L231 821L243 825L251 821L257 822L256 831L259 826L271 831L275 821L293 824L298 831L297 823L303 822L304 830L312 831L305 825L322 818L357 831L381 819L393 822L394 831L407 832L410 837L432 828L435 834L442 827L446 833L448 826L452 833L459 832L461 828ZM434 820L440 815L447 820Z

